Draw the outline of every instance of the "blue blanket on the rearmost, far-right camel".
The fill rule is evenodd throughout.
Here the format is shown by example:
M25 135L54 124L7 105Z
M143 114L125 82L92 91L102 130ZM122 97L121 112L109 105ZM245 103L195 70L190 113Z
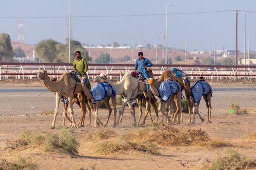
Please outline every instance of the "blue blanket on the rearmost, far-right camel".
M213 89L211 85L209 85L206 81L197 80L191 86L192 97L196 103L198 103L201 100L202 96L204 94L207 94L209 91L211 91L211 96L213 96Z

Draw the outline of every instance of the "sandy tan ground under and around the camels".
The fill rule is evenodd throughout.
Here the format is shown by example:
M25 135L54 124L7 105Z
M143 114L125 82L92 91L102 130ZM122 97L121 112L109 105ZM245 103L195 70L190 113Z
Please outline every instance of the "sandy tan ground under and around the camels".
M249 87L250 82L214 82L213 87ZM0 88L31 88L43 87L35 81L0 81ZM195 124L187 124L188 115L184 114L184 123L174 125L175 127L201 128L211 137L221 138L233 144L233 149L248 157L256 158L256 142L243 141L242 136L246 132L256 130L256 91L215 91L212 98L212 123L206 124L196 117ZM29 149L22 152L7 152L4 150L6 139L17 139L25 130L39 131L49 130L59 133L62 123L62 111L59 107L59 116L56 121L56 128L49 129L53 115L41 115L41 111L53 110L55 108L55 96L53 92L0 92L0 157L7 160L15 160L18 156L31 157L37 163L40 170L60 170L76 168L95 168L96 170L153 170L153 169L197 169L201 165L213 161L217 153L225 153L226 147L219 149L206 149L201 147L161 147L161 155L150 155L140 152L128 152L102 155L96 153L95 143L86 142L84 135L86 131L95 131L93 126L88 126L88 116L85 118L85 127L75 129L80 142L79 154L74 155L67 152L43 152L39 149ZM230 103L237 103L247 109L248 115L230 114ZM137 118L138 118L138 108ZM200 104L200 114L206 118L206 106L204 101ZM160 114L161 115L161 114ZM75 106L75 120L78 122L80 111ZM106 121L107 110L100 109L99 117ZM153 119L156 116L153 114ZM93 117L92 117L93 120ZM113 115L110 118L109 128L112 129ZM123 123L118 128L113 128L118 134L127 133L134 129L144 127L131 127L132 117L125 109ZM146 125L150 125L147 119Z

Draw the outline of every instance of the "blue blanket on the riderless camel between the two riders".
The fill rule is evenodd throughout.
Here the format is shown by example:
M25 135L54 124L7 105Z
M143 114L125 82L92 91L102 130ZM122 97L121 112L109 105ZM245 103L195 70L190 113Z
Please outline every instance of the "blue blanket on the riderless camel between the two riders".
M98 84L94 85L90 91L96 101L101 101L102 99L108 97L111 94L112 97L116 97L115 88L105 82L99 82Z

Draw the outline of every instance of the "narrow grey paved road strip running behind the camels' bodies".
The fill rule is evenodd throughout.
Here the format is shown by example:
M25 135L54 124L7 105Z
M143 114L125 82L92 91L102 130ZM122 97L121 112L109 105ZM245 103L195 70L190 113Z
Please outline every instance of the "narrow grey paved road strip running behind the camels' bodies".
M217 87L213 91L244 91L256 90L256 87ZM0 88L0 92L33 92L33 91L49 91L47 88Z

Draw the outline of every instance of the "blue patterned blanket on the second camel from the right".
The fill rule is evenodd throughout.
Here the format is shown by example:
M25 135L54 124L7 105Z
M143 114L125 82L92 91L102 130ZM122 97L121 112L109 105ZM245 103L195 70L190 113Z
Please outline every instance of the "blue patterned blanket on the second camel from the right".
M177 82L173 80L166 80L159 86L158 93L160 98L164 102L167 102L172 94L177 93L177 90L181 91L180 85Z

